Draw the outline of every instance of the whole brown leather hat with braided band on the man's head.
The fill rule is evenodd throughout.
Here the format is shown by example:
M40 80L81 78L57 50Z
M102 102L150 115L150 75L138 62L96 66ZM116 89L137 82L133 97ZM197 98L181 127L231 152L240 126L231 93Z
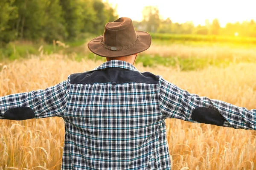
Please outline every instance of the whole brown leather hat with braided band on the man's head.
M122 57L140 53L151 45L151 36L135 31L132 20L121 17L105 25L104 34L88 42L88 48L102 57Z

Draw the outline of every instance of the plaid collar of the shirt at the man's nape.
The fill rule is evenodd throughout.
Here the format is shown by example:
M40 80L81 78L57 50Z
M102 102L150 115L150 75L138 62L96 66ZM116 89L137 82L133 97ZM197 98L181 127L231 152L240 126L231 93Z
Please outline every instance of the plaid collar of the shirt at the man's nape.
M104 62L98 67L94 68L93 70L100 70L100 69L111 68L111 67L119 67L119 68L125 68L128 70L138 71L137 68L135 68L134 65L130 64L129 62L120 61L116 59Z

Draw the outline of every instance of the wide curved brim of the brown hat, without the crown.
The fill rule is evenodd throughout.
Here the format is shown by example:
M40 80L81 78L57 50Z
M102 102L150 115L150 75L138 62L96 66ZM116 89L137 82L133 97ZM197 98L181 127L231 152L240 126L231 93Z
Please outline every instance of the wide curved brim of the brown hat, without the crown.
M151 45L151 35L148 34L145 31L136 31L136 34L140 36L140 41L137 45L120 51L112 51L109 49L106 49L102 46L101 40L103 38L103 35L94 38L90 42L88 42L87 46L90 51L92 51L94 54L97 54L101 57L123 57L123 56L129 56L132 54L137 54L142 51L147 50Z

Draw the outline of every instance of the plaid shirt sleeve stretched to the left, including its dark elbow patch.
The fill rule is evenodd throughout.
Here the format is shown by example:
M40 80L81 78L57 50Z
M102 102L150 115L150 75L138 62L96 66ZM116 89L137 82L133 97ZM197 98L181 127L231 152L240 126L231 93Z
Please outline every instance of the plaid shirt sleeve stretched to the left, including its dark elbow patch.
M44 90L0 97L0 119L25 120L63 116L70 89L70 76Z

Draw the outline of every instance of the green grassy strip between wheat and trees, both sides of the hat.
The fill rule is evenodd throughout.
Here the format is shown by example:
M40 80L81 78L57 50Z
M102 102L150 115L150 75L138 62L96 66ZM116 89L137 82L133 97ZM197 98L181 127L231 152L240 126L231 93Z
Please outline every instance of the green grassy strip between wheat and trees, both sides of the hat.
M191 71L208 66L226 67L230 63L256 62L255 38L151 34L151 47L139 54L137 62L143 66L180 68ZM76 42L53 43L12 42L6 48L0 48L0 60L26 58L29 54L49 55L61 54L81 62L82 59L104 61L102 57L91 53L87 42L92 35L84 35L84 39ZM240 43L238 43L240 42Z

